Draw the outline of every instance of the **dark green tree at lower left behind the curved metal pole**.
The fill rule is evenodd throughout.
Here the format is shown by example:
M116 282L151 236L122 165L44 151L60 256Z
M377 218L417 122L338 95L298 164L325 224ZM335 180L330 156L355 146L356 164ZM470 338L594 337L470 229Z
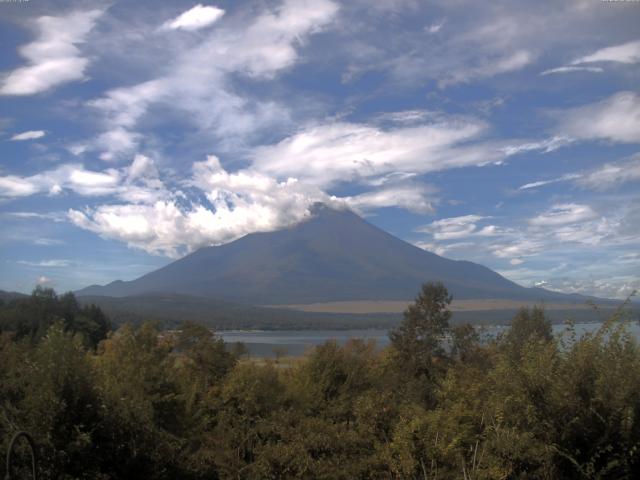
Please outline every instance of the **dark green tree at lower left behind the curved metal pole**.
M58 322L37 345L6 346L0 362L0 450L25 430L38 445L40 478L101 478L100 401L81 338Z

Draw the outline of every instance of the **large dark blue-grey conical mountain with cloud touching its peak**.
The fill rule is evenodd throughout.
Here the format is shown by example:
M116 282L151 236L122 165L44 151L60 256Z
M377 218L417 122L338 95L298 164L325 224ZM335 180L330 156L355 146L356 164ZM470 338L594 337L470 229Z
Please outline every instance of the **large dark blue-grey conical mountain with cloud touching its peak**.
M90 286L78 296L182 294L251 305L408 300L442 281L457 299L573 301L525 288L482 265L422 250L346 210L318 206L291 228L206 247L136 280Z

